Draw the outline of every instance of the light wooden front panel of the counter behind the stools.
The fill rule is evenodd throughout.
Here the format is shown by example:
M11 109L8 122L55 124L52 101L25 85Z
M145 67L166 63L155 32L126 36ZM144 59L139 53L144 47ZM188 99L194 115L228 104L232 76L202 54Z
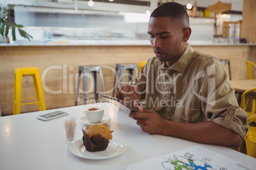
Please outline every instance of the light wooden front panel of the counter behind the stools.
M232 79L247 79L246 61L256 62L256 46L192 45L194 49L231 60ZM153 56L149 45L137 46L0 46L0 102L2 115L13 112L15 67L38 67L46 109L75 105L79 65L103 65L107 95L113 88L115 63L146 62ZM99 91L101 83L99 81ZM34 96L32 77L22 79L22 97ZM79 105L82 104L80 100ZM37 105L24 105L21 113L37 111Z

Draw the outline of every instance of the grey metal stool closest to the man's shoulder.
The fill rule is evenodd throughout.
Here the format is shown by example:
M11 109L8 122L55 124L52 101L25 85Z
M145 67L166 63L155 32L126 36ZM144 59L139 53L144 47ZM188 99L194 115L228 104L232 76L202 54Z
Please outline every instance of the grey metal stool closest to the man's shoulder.
M117 82L118 70L120 70L119 77L119 86L124 86L124 74L125 70L128 70L129 73L129 81L132 79L132 70L134 70L135 74L138 74L138 67L134 63L117 63L115 65L115 79L114 79L114 88L113 88L113 96L115 95L115 87Z

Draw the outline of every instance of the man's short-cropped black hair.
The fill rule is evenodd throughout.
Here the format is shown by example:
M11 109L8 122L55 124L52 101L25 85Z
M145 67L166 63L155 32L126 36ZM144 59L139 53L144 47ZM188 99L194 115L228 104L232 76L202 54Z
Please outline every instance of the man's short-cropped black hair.
M184 6L179 3L164 3L157 7L150 17L170 17L170 20L177 20L189 27L189 16Z

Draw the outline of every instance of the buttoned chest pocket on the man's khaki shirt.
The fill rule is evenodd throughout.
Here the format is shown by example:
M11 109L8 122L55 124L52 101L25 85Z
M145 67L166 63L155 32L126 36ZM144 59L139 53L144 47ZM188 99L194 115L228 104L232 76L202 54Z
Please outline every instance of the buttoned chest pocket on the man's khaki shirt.
M174 116L178 122L196 122L200 118L200 107L186 105L176 107Z

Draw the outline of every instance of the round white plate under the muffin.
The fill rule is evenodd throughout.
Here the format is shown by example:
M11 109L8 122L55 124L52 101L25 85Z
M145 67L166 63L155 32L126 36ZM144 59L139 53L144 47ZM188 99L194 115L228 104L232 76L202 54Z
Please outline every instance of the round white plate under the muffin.
M116 157L122 154L126 149L126 144L118 140L110 140L106 150L97 152L88 152L83 145L83 140L77 140L75 143L70 145L69 150L78 157L85 159L108 159L111 157Z

